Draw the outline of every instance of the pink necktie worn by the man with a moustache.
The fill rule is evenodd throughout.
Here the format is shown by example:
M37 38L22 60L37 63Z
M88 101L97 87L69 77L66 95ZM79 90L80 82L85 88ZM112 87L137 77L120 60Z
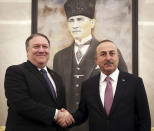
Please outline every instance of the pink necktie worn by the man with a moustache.
M106 110L107 115L110 113L110 109L113 102L113 89L111 84L111 78L109 76L106 77L106 89L104 95L104 108Z

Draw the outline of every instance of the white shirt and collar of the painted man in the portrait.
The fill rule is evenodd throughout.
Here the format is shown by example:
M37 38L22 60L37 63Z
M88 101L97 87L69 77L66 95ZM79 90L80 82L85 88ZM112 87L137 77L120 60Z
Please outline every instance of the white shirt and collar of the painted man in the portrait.
M86 42L90 41L92 39L92 35L90 34L88 37L84 38L82 41L78 41L78 40L75 40L75 43L77 43L78 45L83 45L85 44ZM81 53L82 53L82 57L80 59L80 61L82 60L83 56L86 54L88 48L89 48L90 45L83 45L80 50L81 50ZM76 61L77 63L79 64L80 61L77 60L77 57L76 57L76 52L78 51L78 46L74 46L74 53L75 53L75 58L76 58Z

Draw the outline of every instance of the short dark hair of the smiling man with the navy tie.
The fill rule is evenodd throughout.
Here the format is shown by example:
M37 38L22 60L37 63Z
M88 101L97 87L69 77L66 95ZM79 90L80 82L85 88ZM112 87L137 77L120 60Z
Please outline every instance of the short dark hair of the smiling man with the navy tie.
M34 33L34 34L31 34L31 35L26 39L26 42L25 42L26 48L29 46L29 41L30 41L31 39L33 39L34 37L36 37L36 36L42 36L42 37L44 37L44 38L48 41L49 46L50 46L50 41L49 41L49 39L48 39L48 37L47 37L46 35L44 35L44 34L42 34L42 33Z

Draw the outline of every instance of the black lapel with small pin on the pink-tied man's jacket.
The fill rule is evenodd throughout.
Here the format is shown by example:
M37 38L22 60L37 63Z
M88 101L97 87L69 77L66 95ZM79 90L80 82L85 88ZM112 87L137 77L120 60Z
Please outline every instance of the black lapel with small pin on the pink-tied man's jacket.
M122 72L120 72L119 77L118 77L116 92L114 95L113 104L112 104L111 111L110 111L110 115L112 115L112 113L114 113L114 111L116 110L116 107L118 106L118 103L120 102L120 99L122 98L121 97L121 95L123 94L122 92L125 91L126 83L127 83L127 78Z

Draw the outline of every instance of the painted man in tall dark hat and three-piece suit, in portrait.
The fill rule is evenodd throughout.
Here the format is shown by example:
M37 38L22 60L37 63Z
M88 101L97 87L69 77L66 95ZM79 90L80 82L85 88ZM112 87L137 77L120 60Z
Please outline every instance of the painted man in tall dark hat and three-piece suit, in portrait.
M95 3L95 0L67 0L64 4L68 27L74 42L56 53L53 69L63 79L67 109L70 112L75 112L78 108L81 83L100 71L94 62L98 41L92 35L95 25ZM119 70L127 72L121 53L120 56ZM88 124L71 129L71 131L79 130L88 131Z

